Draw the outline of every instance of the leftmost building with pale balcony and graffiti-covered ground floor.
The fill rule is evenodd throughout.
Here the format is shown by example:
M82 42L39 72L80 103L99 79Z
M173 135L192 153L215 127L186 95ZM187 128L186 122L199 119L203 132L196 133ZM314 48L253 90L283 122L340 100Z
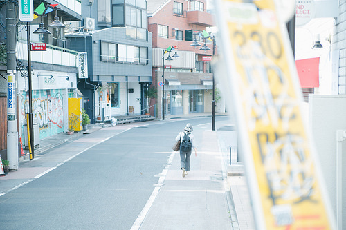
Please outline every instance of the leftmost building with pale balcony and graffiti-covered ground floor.
M16 63L17 71L17 120L18 120L18 139L21 138L23 147L27 144L26 113L29 112L28 97L28 43L46 44L46 51L30 51L31 56L31 79L32 79L32 99L35 144L39 140L51 137L57 133L66 132L69 129L68 98L76 97L78 79L78 52L66 49L66 39L64 38L64 28L53 28L49 26L55 17L55 10L60 21L78 21L80 15L80 2L71 1L33 1L34 10L41 4L43 7L57 4L51 7L51 12L47 12L43 17L39 16L30 22L30 41L28 41L28 26L25 22L17 21L17 31L15 31L16 41ZM6 21L6 1L1 3L1 17ZM15 15L19 15L18 6L15 5ZM37 34L35 31L39 24L48 30L49 34ZM1 32L0 42L6 41L6 32ZM8 41L6 41L8 42ZM1 53L6 52L1 44ZM6 55L1 55L5 57ZM1 59L3 60L3 59ZM1 61L1 81L0 95L6 95L7 79L6 64ZM3 119L6 121L6 119ZM3 122L6 123L6 122ZM20 146L19 146L20 149Z

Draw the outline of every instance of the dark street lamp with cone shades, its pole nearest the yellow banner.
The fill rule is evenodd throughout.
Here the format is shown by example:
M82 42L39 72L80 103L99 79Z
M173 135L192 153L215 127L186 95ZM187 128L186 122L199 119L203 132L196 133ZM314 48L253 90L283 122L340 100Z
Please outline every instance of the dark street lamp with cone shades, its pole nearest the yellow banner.
M203 37L204 39L204 45L199 49L199 50L210 50L210 48L207 46L206 44L206 39L212 39L212 56L215 56L215 35L208 35L207 32L203 31L199 31L197 33L197 35L200 35ZM208 36L205 36L208 35ZM199 44L197 42L196 39L194 39L194 42L190 45L190 46L194 46L194 48L196 48L197 46L201 46L201 44ZM212 71L212 131L215 131L215 78L214 78L214 70Z

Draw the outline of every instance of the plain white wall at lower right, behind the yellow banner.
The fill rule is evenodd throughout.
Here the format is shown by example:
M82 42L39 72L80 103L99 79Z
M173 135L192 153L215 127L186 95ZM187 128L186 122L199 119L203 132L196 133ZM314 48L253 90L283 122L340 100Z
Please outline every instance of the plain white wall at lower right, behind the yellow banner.
M336 202L341 202L336 200L336 131L346 130L345 115L346 95L310 95L309 122L334 215ZM346 199L346 191L343 193ZM343 219L346 220L346 213Z

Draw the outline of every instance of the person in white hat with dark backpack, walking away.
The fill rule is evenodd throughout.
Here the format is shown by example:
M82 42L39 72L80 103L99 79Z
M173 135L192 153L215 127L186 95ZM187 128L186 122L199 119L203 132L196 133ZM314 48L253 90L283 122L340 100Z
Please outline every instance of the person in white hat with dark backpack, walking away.
M194 135L191 133L193 131L192 125L190 123L186 124L183 132L180 132L176 136L176 141L181 142L180 144L180 166L183 170L183 178L188 175L190 171L190 157L192 148L194 148L194 155L197 156L197 148L194 144Z

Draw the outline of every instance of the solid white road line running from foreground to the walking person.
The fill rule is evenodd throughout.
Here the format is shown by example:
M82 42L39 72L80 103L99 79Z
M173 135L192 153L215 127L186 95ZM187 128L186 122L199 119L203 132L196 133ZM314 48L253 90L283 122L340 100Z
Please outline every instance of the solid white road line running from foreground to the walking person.
M130 230L138 230L140 226L143 224L143 221L145 217L147 216L147 213L149 212L149 209L152 207L152 204L154 203L154 200L156 196L158 195L158 192L160 191L161 186L163 185L163 182L165 181L168 169L170 168L172 164L173 157L175 155L176 151L172 151L170 157L168 157L167 164L165 166L165 169L163 169L162 173L160 173L160 178L158 178L157 184L154 184L155 188L154 191L152 191L152 195L150 195L149 200L145 204L142 211L140 211L138 218L132 225Z

